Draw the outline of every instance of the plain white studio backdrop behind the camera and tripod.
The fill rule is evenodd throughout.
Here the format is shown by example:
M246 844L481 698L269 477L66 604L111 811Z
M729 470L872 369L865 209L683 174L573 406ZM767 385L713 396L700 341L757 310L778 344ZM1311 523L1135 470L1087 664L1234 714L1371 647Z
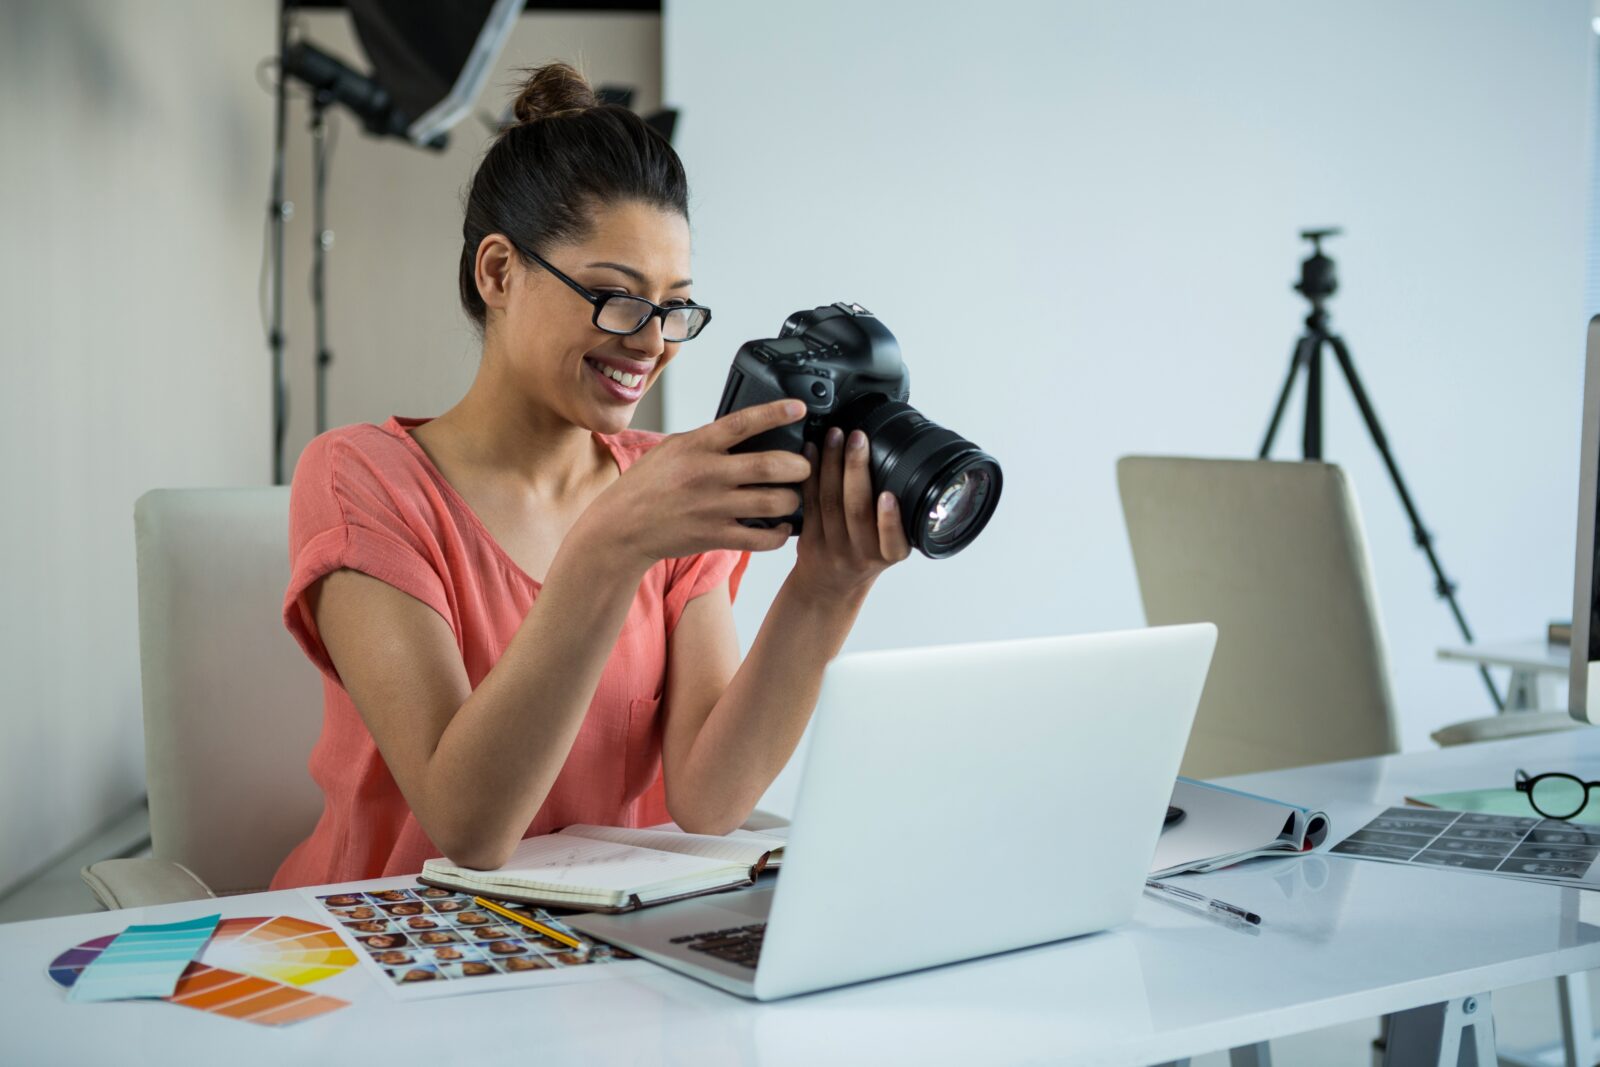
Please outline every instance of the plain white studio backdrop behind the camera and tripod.
M912 402L1005 467L982 537L890 573L850 648L1142 624L1114 464L1254 453L1302 326L1296 232L1326 224L1334 328L1478 637L1570 613L1587 0L669 0L664 27L717 309L667 427L712 416L741 341L854 299ZM1488 697L1435 661L1456 632L1342 381L1325 411L1402 742L1427 745ZM752 566L744 641L787 565Z

